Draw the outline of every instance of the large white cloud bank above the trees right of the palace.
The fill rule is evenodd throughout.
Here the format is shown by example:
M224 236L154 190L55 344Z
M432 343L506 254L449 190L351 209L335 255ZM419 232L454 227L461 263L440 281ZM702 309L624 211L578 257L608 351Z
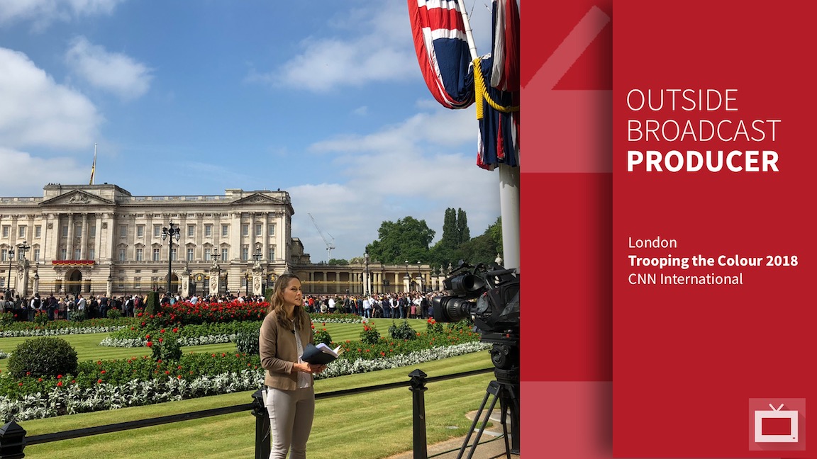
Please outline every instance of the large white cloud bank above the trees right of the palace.
M346 180L288 189L297 212L292 235L312 261L326 261L311 213L335 238L333 257L348 259L377 238L382 221L413 216L440 238L447 207L465 210L471 235L482 234L499 216L498 172L476 167L475 142L472 110L438 109L366 136L315 143L310 152L331 156L337 176Z

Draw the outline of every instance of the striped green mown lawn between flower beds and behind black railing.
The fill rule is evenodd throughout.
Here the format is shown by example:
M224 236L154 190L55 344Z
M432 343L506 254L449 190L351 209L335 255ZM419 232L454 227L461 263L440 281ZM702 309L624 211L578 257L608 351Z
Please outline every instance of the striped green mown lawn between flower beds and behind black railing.
M386 336L391 319L375 319ZM395 320L399 323L400 320ZM425 320L409 320L413 328L425 331ZM315 327L323 327L315 323ZM360 324L326 324L335 341L358 339ZM77 350L81 360L127 359L148 354L145 348L109 348L99 345L106 333L62 336ZM2 338L0 350L10 352L30 338ZM233 352L234 343L185 347L185 352ZM0 360L5 371L7 360ZM488 351L418 365L429 377L479 368L492 368ZM408 381L415 367L393 368L315 382L318 392L377 385L391 381ZM479 407L493 373L457 380L440 381L428 386L426 397L426 432L428 443L465 433L470 426L465 414ZM147 407L83 413L35 421L21 421L29 435L59 432L114 422L160 417L181 412L232 406L252 402L252 392L223 394L180 402L160 403ZM315 426L309 443L310 458L376 459L412 449L412 395L408 388L319 400ZM224 458L254 457L255 417L239 412L220 417L182 421L164 426L145 427L114 434L82 439L29 445L26 457L60 459L100 457L125 459L135 457ZM342 447L339 447L342 445Z

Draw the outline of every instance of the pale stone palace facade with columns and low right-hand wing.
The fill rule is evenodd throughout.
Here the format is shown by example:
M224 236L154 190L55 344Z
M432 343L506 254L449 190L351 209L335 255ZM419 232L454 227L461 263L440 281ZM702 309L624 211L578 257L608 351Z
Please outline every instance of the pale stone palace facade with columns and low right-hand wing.
M281 190L133 196L117 185L48 184L42 198L0 198L0 291L260 294L292 272L306 292L397 292L444 275L408 262L313 265L292 237L294 213ZM168 228L178 235L167 238Z

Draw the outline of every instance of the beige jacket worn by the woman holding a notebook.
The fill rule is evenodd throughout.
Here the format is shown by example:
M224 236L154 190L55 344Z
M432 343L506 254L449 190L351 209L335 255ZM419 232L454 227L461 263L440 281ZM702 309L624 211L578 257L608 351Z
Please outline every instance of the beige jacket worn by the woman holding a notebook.
M298 330L298 333L303 347L306 348L308 343L315 343L315 332L311 324L307 324L304 330ZM258 353L261 354L261 367L266 370L265 385L281 390L297 389L298 372L292 371L292 365L297 363L300 357L295 332L281 327L275 317L275 311L266 314L264 322L261 323ZM315 384L314 380L312 384Z

